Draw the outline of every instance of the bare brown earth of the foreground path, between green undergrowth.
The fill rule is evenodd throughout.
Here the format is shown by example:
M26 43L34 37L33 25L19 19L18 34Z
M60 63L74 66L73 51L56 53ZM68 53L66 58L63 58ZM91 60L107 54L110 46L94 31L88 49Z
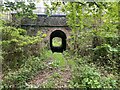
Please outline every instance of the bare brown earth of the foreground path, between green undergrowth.
M43 83L46 83L48 78L50 78L54 73L60 74L61 78L55 79L55 82L57 87L67 87L69 80L71 79L71 72L69 69L66 69L64 71L61 70L44 70L41 71L38 75L36 75L30 82L29 84L39 86ZM58 82L58 81L59 82Z

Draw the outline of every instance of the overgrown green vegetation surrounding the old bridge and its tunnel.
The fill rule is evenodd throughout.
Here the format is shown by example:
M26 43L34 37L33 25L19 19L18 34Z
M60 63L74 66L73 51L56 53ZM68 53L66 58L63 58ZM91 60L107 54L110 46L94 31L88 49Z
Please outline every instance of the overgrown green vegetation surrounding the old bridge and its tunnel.
M8 9L6 5L10 4L14 5ZM44 43L46 34L38 32L36 36L29 36L19 27L20 23L11 25L0 20L3 66L0 88L120 88L119 3L55 2L51 7L45 6L48 16L59 6L66 14L72 29L67 50L63 54L51 53ZM22 11L17 12L16 19L35 17L34 4L8 2L2 10L18 7ZM58 44L59 40L54 42ZM45 81L29 84L39 72L48 73Z

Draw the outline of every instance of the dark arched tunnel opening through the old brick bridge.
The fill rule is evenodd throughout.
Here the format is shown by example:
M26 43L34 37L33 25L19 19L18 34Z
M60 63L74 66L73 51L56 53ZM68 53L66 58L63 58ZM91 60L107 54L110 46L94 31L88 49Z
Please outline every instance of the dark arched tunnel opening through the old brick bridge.
M60 46L54 46L53 45L53 39L54 38L61 38L61 45ZM55 30L50 34L50 48L52 52L60 52L62 53L63 51L66 50L66 34L61 31L61 30Z

